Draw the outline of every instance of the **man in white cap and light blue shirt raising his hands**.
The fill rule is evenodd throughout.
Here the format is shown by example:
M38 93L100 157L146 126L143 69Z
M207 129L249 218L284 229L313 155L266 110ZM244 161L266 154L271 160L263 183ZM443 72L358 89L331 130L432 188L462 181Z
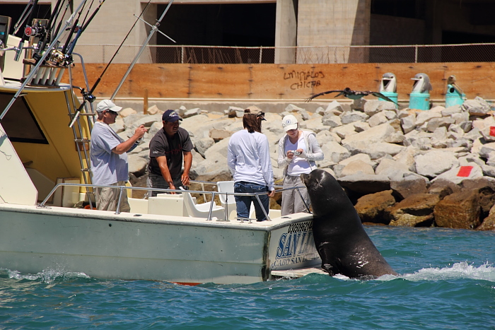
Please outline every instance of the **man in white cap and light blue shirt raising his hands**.
M134 135L124 141L109 126L115 123L118 112L122 107L111 100L98 103L96 119L91 131L91 172L93 184L105 186L124 186L129 180L127 151L137 145L138 140L146 133L143 125L139 126ZM103 211L116 211L120 189L110 187L95 188L96 208ZM127 201L127 191L123 191L120 201L120 211L129 212L131 208Z

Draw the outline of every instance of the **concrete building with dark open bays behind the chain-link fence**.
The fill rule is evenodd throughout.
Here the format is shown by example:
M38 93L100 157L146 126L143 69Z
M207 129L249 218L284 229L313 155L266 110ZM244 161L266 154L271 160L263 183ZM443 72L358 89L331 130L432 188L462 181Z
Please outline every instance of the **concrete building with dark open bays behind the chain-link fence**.
M46 16L56 2L38 1L40 8L45 6L38 9L39 16ZM2 0L1 15L15 21L27 3ZM126 40L127 45L141 45L167 4L107 0L78 44L106 40L119 45L146 8ZM494 10L492 0L175 0L159 25L161 33L155 33L149 45L275 47L269 62L297 63L295 47L495 42ZM94 49L88 52L88 61L101 61ZM311 56L318 57L318 52ZM359 63L367 56L347 50L338 62ZM151 54L140 62L156 58Z

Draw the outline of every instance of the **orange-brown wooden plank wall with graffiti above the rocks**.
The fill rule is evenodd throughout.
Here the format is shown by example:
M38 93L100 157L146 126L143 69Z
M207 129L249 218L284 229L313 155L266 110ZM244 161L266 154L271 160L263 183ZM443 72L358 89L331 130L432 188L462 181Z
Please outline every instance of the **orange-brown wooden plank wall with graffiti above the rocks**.
M110 97L127 71L112 64L95 96ZM86 64L88 80L96 81L105 66ZM383 73L397 76L399 100L408 100L416 73L429 75L431 100L443 100L448 76L455 74L467 98L495 100L495 62L417 64L136 64L117 98L303 100L314 93L349 87L378 91ZM72 69L74 84L84 86L81 66ZM65 81L68 75L65 73ZM334 98L334 95L321 97Z

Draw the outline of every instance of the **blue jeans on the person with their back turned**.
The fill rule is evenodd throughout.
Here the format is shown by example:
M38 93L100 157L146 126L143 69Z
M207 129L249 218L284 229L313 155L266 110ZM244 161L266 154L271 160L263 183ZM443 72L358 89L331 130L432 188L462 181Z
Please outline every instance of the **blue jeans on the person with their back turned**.
M255 184L252 182L235 182L234 183L234 192L243 192L243 193L260 193L260 192L268 192L267 186L262 186L261 184ZM269 197L267 194L260 194L261 204L265 211L269 211ZM256 211L256 220L264 221L267 220L267 217L263 213L263 209L258 203L256 196L234 196L235 199L235 207L237 208L237 217L238 218L249 218L249 211L251 207L251 202L255 204Z

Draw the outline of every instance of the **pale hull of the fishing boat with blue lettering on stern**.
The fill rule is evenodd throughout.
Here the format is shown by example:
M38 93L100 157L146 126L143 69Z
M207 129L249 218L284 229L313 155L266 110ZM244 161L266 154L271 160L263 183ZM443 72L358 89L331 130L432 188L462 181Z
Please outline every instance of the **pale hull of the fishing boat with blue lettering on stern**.
M0 204L0 268L93 278L254 283L321 261L312 217L263 223Z

